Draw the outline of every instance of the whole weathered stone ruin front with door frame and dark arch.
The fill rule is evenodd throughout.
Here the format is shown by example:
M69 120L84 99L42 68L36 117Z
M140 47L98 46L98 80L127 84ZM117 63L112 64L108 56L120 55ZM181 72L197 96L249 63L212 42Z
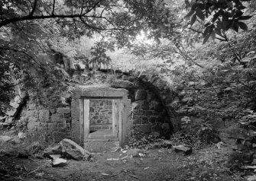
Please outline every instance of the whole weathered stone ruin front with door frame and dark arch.
M106 83L109 74L96 75L97 80ZM127 144L129 138L136 134L161 132L162 125L169 124L171 131L177 131L179 124L177 115L170 103L173 101L173 91L163 78L157 75L118 75L112 84L104 86L93 85L93 80L84 80L87 86L73 88L72 100L69 104L61 104L47 110L28 102L21 113L21 119L28 122L28 130L34 131L44 127L45 132L53 135L54 141L61 138L72 138L79 144L84 144L84 100L89 101L89 132L97 130L113 130L112 100L122 100L119 106L122 110L122 124L118 125L119 141ZM113 86L115 88L112 88ZM65 106L66 105L66 106ZM114 115L115 116L115 115ZM135 136L137 136L135 134ZM138 137L139 138L139 137Z

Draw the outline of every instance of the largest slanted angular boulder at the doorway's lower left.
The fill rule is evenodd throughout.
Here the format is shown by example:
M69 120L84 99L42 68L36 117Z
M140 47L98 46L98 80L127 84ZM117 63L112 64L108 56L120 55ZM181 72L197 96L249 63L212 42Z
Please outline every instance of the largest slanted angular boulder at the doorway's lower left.
M89 151L86 151L70 139L63 139L60 141L60 145L66 156L71 157L74 160L88 160L90 157Z

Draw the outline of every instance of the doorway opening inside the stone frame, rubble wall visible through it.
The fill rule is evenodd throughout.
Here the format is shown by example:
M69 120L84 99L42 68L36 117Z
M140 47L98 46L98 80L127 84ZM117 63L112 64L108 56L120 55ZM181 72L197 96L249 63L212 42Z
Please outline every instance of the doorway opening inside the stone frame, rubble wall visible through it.
M85 140L118 140L122 122L121 98L89 97L83 100Z

